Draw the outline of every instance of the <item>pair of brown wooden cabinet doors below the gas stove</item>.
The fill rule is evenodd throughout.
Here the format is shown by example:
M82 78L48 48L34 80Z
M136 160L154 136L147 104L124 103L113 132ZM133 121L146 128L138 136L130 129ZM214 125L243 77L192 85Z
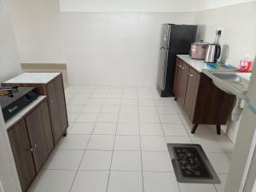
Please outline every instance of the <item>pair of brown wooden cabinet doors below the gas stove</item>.
M22 191L26 191L54 148L46 99L8 129Z

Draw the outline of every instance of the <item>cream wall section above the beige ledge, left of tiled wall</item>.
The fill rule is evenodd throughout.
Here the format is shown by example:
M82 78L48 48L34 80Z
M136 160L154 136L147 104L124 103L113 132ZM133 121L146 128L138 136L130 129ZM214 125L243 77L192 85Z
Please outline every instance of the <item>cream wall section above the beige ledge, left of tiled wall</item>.
M21 63L66 62L58 0L9 0Z

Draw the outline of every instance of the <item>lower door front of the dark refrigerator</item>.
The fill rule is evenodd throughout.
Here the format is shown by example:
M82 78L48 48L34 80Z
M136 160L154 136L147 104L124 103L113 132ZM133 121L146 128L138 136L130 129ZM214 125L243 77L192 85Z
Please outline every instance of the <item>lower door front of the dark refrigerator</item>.
M160 90L165 90L166 87L166 68L168 61L168 49L165 47L160 48L160 63L158 69L158 85Z

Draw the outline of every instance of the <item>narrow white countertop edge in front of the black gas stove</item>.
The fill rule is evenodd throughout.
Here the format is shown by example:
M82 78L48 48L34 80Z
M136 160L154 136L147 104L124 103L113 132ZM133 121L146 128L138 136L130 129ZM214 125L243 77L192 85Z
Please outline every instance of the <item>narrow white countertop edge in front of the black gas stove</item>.
M42 102L46 97L47 96L38 96L38 98L35 101L30 103L28 106L26 106L26 108L23 108L22 110L20 110L20 112L15 114L14 117L9 119L5 123L5 129L9 129L9 127L11 127L12 125L15 125L15 123L17 123L20 119L22 119L26 115L26 113L28 113L32 108L37 106L38 103Z

